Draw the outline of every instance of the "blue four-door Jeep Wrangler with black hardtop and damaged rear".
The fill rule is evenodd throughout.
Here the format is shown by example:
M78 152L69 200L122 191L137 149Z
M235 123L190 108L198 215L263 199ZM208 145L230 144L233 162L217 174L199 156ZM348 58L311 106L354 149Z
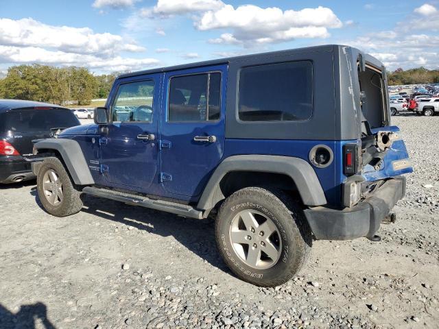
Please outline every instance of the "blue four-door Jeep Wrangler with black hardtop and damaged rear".
M313 240L394 221L413 169L388 99L383 64L340 45L123 74L95 124L35 143L38 195L59 217L81 194L214 215L228 267L276 286Z

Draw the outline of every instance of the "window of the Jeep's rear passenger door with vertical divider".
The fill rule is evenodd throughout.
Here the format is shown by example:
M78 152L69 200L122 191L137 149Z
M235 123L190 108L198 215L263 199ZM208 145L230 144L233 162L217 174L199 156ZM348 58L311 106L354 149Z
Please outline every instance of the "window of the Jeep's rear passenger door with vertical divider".
M219 119L221 73L172 77L169 82L168 121Z

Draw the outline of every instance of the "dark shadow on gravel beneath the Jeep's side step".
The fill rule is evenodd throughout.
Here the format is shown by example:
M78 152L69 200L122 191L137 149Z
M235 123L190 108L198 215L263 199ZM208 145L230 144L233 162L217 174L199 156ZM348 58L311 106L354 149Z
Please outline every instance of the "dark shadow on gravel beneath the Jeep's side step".
M226 273L228 270L220 258L215 243L213 219L191 219L139 206L86 195L82 212L117 221L139 230L161 236L174 236L182 245L200 258ZM181 259L185 262L185 259Z

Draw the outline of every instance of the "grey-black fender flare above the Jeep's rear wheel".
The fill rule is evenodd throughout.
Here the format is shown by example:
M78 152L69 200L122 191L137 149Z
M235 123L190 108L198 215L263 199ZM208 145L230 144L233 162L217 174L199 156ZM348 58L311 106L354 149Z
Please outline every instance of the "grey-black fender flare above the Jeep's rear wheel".
M215 169L198 201L198 209L211 210L225 199L219 182L230 171L263 171L289 175L298 188L302 202L307 206L327 204L316 171L307 161L289 156L241 155L230 156Z

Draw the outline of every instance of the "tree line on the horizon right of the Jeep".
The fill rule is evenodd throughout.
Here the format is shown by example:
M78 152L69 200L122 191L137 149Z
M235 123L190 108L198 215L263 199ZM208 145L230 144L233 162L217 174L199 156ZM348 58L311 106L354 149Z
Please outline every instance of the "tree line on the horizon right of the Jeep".
M399 84L435 84L439 83L439 70L429 70L425 67L404 71L399 68L388 72L388 84L390 86Z

